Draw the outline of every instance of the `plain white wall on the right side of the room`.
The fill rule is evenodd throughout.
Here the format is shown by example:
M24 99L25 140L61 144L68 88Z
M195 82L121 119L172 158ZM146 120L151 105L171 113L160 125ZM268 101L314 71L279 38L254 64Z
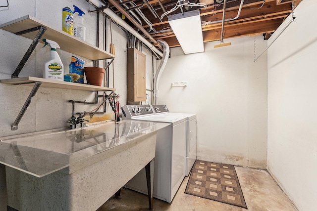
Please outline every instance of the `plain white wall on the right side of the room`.
M316 0L303 0L267 59L267 166L300 211L317 207L316 10Z

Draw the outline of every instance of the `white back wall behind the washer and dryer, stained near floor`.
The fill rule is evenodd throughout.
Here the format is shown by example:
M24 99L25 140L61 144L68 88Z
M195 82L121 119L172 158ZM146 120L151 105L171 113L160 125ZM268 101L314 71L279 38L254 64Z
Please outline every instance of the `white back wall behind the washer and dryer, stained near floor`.
M159 104L171 112L197 114L197 158L266 168L266 54L256 63L254 37L225 40L230 46L184 55L171 48L159 82ZM266 47L256 37L256 50ZM187 82L187 87L171 87Z

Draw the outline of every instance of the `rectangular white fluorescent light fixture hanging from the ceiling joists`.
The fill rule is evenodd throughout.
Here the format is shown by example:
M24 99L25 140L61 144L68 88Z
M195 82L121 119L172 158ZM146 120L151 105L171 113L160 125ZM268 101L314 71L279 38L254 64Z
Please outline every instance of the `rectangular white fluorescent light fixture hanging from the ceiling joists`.
M204 52L199 10L168 16L168 23L185 54Z

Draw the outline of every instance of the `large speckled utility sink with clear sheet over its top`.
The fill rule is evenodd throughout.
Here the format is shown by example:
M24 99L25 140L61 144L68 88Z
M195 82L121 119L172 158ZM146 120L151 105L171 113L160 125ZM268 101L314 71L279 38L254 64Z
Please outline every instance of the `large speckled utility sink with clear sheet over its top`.
M157 131L168 125L124 120L2 139L8 206L97 210L154 159Z

